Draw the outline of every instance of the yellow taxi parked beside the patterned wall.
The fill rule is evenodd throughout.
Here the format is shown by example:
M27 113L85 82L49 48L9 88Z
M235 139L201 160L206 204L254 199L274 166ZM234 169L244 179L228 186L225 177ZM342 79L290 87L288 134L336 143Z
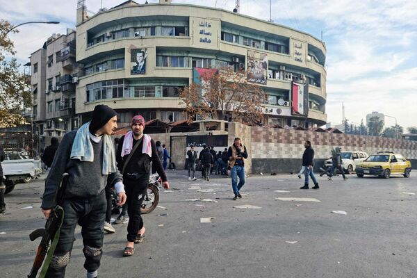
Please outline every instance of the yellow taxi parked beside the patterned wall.
M359 162L356 167L358 177L365 174L379 176L388 179L391 174L402 174L404 177L410 177L411 162L407 161L401 154L393 152L377 152L372 154L364 161Z

